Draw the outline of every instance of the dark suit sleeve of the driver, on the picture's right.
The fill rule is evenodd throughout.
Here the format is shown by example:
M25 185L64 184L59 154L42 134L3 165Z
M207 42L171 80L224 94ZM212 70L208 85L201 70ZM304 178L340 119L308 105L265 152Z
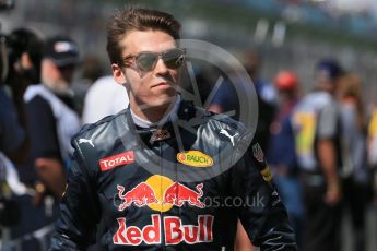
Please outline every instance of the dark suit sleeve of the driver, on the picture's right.
M262 251L297 250L286 210L258 143L251 143L231 174L233 196L244 201L244 206L236 208L238 218L252 244Z

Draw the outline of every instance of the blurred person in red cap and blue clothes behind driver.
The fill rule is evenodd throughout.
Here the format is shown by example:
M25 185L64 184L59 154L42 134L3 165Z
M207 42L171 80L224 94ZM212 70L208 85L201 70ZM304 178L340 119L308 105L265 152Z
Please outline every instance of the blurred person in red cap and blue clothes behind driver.
M292 113L298 103L298 80L295 72L280 71L274 79L278 89L278 111L270 127L267 159L274 174L274 181L288 212L295 230L297 246L302 244L304 205L302 186L292 128Z

